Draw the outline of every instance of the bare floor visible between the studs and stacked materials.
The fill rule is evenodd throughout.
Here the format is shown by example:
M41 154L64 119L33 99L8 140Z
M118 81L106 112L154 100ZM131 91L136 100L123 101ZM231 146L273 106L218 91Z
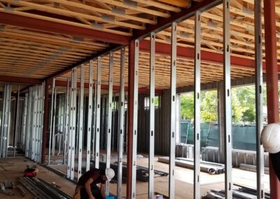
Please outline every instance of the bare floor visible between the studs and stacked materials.
M62 156L52 157L52 168L66 172L66 165L61 163ZM27 164L33 165L31 160L18 156L16 158L0 158L0 182L4 180L16 181L18 177L23 175L23 171L27 167ZM55 164L55 165L54 165ZM148 158L137 158L137 165L147 167ZM168 165L165 163L155 162L155 170L168 172ZM48 181L49 183L55 182L58 186L62 187L62 191L73 195L75 184L64 177L61 177L54 172L51 172L45 167L38 165L38 177ZM176 198L193 198L193 170L189 170L182 167L176 167L175 172L175 193ZM244 186L255 187L256 175L255 172L248 172L233 168L232 179L236 184ZM211 188L224 188L224 174L211 175L208 173L201 173L201 193L202 195L207 193ZM110 191L116 194L117 184L110 185ZM269 176L265 174L265 189L269 189ZM3 195L0 193L0 198L22 198L17 189L13 189L14 196ZM123 184L123 197L126 194L126 184ZM155 177L155 193L168 195L168 177ZM148 198L148 182L137 181L137 198ZM34 198L29 193L25 198Z

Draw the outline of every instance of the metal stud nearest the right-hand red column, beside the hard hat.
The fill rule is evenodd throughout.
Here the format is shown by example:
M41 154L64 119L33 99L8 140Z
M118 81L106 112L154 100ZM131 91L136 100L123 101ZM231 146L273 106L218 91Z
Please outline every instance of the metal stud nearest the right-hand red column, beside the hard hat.
M255 0L255 140L257 146L257 195L265 198L264 177L265 165L263 147L260 144L260 133L263 128L262 115L262 8L261 0Z

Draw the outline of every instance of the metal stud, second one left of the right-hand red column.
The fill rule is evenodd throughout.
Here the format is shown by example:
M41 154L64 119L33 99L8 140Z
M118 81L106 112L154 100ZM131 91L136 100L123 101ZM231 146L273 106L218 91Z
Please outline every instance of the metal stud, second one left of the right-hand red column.
M225 121L225 198L232 198L232 108L230 92L230 0L223 0L223 81Z

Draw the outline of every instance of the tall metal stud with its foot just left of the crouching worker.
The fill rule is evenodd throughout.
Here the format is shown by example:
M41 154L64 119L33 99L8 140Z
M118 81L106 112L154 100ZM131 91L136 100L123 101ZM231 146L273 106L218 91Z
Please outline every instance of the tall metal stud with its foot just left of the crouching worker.
M73 68L73 115L72 115L72 139L71 139L71 172L70 179L74 179L74 170L75 170L75 144L76 144L76 101L77 101L77 68Z

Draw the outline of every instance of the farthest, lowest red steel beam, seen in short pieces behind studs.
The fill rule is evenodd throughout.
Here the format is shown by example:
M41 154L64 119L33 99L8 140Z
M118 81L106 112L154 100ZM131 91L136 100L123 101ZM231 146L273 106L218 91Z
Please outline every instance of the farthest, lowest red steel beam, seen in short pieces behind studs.
M66 87L67 86L67 82L66 81L61 81L61 80L56 80L55 81L55 85ZM71 81L69 82L69 86L71 86ZM77 87L78 88L80 87L80 82L77 82ZM88 83L85 83L84 87L85 88L89 88ZM93 87L94 87L94 85L93 85ZM101 89L102 90L109 90L109 85L102 84L101 85ZM125 86L125 91L128 91L128 89L129 89L129 87ZM120 90L120 85L113 85L113 90ZM150 88L139 88L138 92L139 93L150 93ZM155 93L158 94L158 95L161 95L162 94L162 90L155 89Z

